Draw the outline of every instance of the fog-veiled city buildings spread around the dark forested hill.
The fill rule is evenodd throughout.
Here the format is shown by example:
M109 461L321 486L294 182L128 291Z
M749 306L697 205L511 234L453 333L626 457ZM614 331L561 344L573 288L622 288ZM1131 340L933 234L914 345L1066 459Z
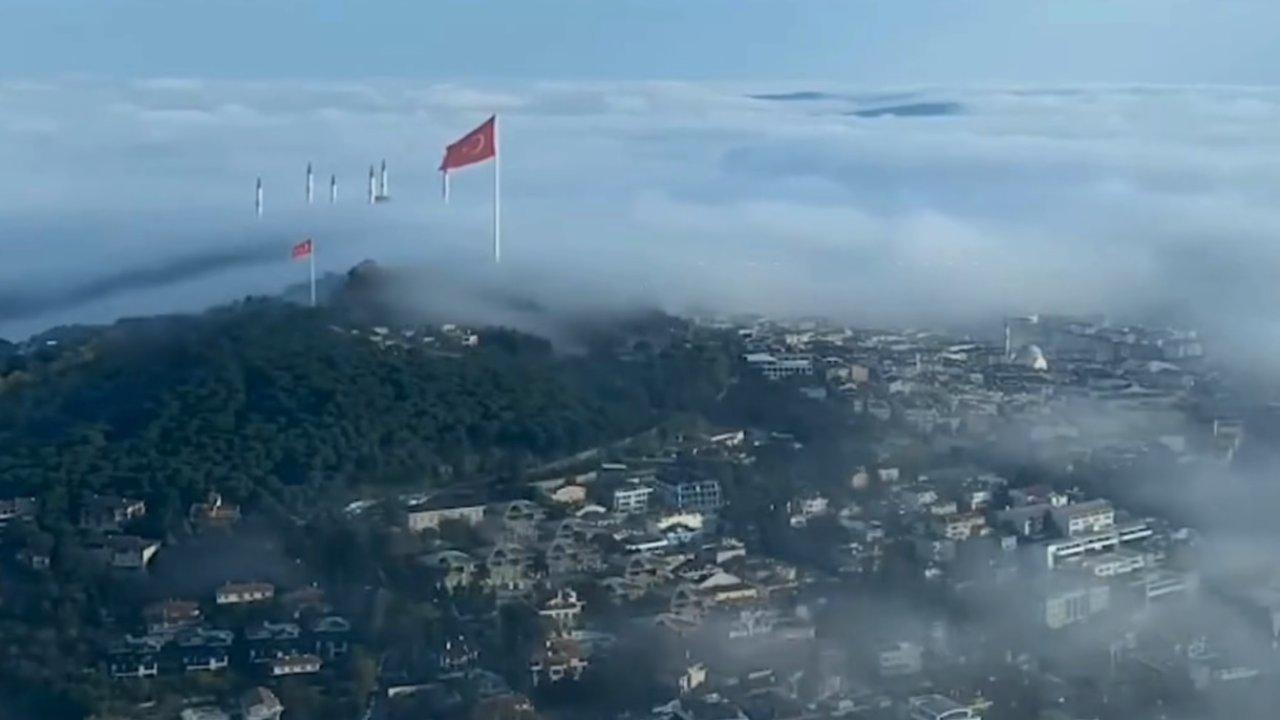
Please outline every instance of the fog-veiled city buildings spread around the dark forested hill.
M593 352L727 354L708 414L515 475L305 510L211 489L163 523L142 497L6 497L20 570L5 607L56 603L46 593L84 575L116 601L79 638L101 717L1265 707L1280 577L1265 556L1224 562L1215 534L1231 527L1165 496L1254 492L1245 413L1270 406L1193 331L1061 315L1001 329L650 318ZM333 331L462 363L486 346L451 324ZM79 351L58 342L10 361ZM73 529L46 523L56 502Z

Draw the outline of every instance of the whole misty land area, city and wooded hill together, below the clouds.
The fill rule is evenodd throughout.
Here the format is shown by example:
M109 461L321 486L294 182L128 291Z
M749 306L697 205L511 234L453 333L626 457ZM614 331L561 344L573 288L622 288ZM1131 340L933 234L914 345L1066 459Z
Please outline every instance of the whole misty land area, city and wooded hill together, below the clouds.
M259 400L285 382L262 374L315 375L246 361L106 419L68 377L132 341L5 350L13 703L102 720L1155 720L1277 700L1280 574L1225 550L1268 532L1251 502L1275 409L1193 331L650 316L561 355L509 331L280 313L311 318L289 332L329 348L316 365L358 355L380 384ZM119 368L184 356L137 355ZM410 370L445 400L396 415L419 398ZM33 395L54 382L56 418ZM311 406L346 393L367 414L321 428ZM484 420L444 405L461 402ZM219 404L241 409L187 413ZM316 419L264 419L282 407ZM179 420L209 450L198 469L159 459L187 452ZM410 446L419 429L429 447ZM275 446L302 432L301 455ZM115 461L113 433L163 450Z

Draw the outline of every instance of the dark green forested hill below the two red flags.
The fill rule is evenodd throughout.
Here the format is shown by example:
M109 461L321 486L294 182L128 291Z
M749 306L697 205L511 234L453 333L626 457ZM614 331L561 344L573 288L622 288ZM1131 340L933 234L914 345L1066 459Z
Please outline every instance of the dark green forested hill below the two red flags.
M0 357L0 478L49 514L92 489L174 521L211 488L287 501L513 475L714 398L730 348L660 320L666 343L620 333L585 355L506 329L477 347L378 336L280 300L79 329Z

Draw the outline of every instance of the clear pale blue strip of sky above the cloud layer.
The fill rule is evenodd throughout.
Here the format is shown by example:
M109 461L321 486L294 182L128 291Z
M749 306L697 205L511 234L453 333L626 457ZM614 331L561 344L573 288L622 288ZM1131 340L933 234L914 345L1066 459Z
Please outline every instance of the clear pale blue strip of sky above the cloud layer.
M8 0L0 74L1270 83L1271 0Z

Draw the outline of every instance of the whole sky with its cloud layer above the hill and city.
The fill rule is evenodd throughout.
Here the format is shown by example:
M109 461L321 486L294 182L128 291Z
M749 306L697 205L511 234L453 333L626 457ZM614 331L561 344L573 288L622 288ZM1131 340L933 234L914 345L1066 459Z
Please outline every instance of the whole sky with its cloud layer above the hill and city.
M492 274L490 169L444 205L435 165L494 111L485 282L1280 337L1275 20L1252 0L10 0L0 337L273 292L305 278L284 260L305 236L323 273ZM384 158L393 201L370 208Z

